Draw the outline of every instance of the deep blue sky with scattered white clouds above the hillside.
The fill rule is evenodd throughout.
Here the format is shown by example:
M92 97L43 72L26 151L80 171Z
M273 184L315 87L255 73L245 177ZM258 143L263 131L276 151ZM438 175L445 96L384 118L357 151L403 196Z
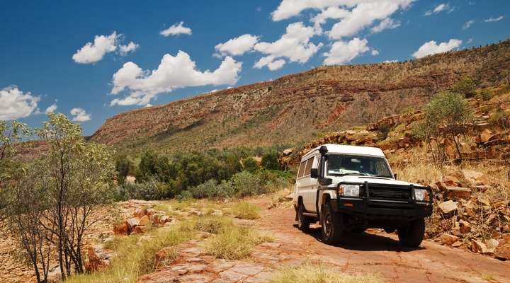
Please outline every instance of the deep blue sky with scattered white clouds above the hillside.
M86 135L106 118L147 104L322 64L412 59L510 35L510 1L503 0L2 1L1 7L0 120L39 127L56 106Z

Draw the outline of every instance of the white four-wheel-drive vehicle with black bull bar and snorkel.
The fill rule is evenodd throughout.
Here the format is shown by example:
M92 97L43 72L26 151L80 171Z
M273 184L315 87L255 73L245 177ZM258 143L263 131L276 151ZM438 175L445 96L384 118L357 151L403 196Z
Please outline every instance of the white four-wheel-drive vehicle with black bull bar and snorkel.
M432 213L432 190L397 180L378 148L324 144L301 158L294 207L298 228L319 221L324 243L338 243L344 231L382 228L417 247Z

